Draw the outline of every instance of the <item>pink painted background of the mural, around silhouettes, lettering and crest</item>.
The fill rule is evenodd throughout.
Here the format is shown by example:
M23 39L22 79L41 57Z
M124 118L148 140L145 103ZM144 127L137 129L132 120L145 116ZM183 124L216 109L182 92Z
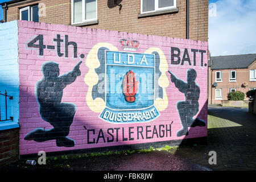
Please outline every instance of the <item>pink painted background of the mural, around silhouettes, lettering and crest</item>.
M20 155L33 154L41 150L46 152L77 150L207 136L207 125L188 127L188 135L177 136L177 131L181 130L183 126L181 125L180 115L176 104L179 101L184 101L185 97L184 93L181 93L179 89L176 88L174 82L171 82L170 73L168 73L169 69L177 78L186 82L188 69L195 69L197 74L195 82L200 88L200 95L198 100L199 110L195 115L192 115L192 117L194 119L199 117L207 123L207 42L27 21L18 21L18 27ZM57 55L57 44L56 41L53 41L53 39L57 38L57 34L59 34L60 38L63 39L60 47L60 52L64 53L62 57ZM55 49L49 49L46 47L43 49L43 55L39 55L39 48L29 47L28 43L38 35L43 36L44 45L55 46ZM69 46L69 55L68 57L65 57L65 35L68 35L69 42L75 42L77 44L77 57L75 58L73 57L72 46ZM112 51L124 51L122 50L124 47L122 47L122 44L119 42L122 38L126 38L127 40L136 39L139 42L139 48L137 51L125 52L158 52L158 55L160 55L159 69L162 72L162 78L160 78L158 82L159 86L162 86L163 98L160 98L160 101L162 100L162 102L156 101L156 99L154 100L154 107L159 111L159 116L157 118L152 117L150 121L111 123L104 121L104 119L100 117L101 112L97 111L97 109L102 108L102 111L105 108L105 106L102 106L102 103L96 107L90 106L92 105L92 101L89 100L89 98L92 97L89 97L91 94L88 95L88 92L91 91L88 86L88 78L86 80L86 75L90 69L91 71L94 71L94 69L92 69L93 65L95 65L95 68L99 66L91 64L95 58L90 57L95 56L95 51L93 51L92 48L94 47L94 49L97 49L95 46L98 44L100 47L109 46L109 49L112 49ZM35 42L35 44L39 44L39 41ZM172 64L171 47L180 49L180 64ZM186 59L184 59L184 64L181 65L185 49L188 50L191 65L189 65L189 61L186 61ZM197 50L197 52L195 52L195 65L194 53L191 51L192 49ZM199 52L199 50L202 51ZM174 53L177 52L175 51ZM85 57L82 58L80 56L81 54L84 54ZM202 56L203 60L201 60ZM187 56L185 55L184 58L186 57ZM175 61L176 60L177 58L175 57ZM67 135L69 139L75 142L75 146L73 147L57 146L56 139L49 139L45 141L24 139L28 133L33 132L37 128L42 128L44 130L53 128L49 122L42 119L40 116L39 102L36 100L35 85L37 81L42 79L42 64L47 61L55 61L59 64L60 75L72 71L73 67L79 61L82 61L80 65L81 75L77 76L76 80L72 82L72 84L69 84L64 88L63 97L61 99L61 102L69 102L76 105L75 116ZM202 64L201 61L203 61ZM97 76L91 77L91 81L92 80L97 80ZM166 93L166 96L164 96L164 93ZM136 99L139 98L139 96L136 97ZM193 109L193 106L191 106L191 109ZM187 115L189 115L189 112L190 111L188 109L184 111L184 114L186 115L187 113ZM161 130L166 130L166 126L167 129L170 129L171 126L171 136L169 133L170 131L168 131L168 135L166 137L167 133L165 131L164 137L160 137L159 125L161 125ZM162 125L164 125L164 127ZM141 134L139 134L139 136L137 135L137 130L140 130L141 127L143 128L142 134L144 139L142 139ZM118 141L116 137L117 128L119 128ZM90 130L89 135L88 130ZM113 142L108 142L108 138L109 140L112 139L112 136L109 135L108 131L109 133L112 133L113 131ZM146 133L149 138L146 138ZM123 134L127 140L123 140ZM93 142L93 139L95 139L96 142L99 137L98 143L88 143L88 136L90 142Z

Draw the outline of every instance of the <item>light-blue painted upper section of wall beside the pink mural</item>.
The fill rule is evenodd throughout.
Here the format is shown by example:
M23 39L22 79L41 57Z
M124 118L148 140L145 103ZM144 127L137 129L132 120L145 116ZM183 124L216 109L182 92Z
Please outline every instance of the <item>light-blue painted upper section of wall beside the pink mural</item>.
M16 21L0 23L0 78L1 131L19 127L18 25ZM5 93L12 96L12 99L7 97L5 100L3 96ZM13 120L7 120L10 117Z

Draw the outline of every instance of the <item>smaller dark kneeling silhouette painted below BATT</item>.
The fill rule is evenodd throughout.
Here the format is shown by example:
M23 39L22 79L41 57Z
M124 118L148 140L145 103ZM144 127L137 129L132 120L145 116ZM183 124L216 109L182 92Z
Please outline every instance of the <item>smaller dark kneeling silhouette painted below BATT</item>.
M205 121L200 118L193 119L193 116L199 111L200 88L195 82L197 76L195 69L188 69L187 82L176 78L171 71L168 72L171 74L171 81L174 82L176 88L185 95L185 101L179 101L176 104L183 126L181 130L177 131L177 137L181 137L188 135L188 127L205 126Z

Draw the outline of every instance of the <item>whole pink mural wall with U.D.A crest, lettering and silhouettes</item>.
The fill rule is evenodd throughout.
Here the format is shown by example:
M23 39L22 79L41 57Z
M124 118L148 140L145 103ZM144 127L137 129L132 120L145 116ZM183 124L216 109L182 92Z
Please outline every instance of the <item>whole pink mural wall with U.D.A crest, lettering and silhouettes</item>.
M20 155L207 136L207 42L18 27Z

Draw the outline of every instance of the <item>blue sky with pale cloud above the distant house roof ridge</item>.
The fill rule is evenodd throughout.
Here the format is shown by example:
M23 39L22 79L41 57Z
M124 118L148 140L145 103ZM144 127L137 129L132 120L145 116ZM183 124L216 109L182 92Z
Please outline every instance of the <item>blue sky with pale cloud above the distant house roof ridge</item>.
M211 56L256 53L255 18L255 0L209 0L208 43ZM0 7L1 19L3 11Z

